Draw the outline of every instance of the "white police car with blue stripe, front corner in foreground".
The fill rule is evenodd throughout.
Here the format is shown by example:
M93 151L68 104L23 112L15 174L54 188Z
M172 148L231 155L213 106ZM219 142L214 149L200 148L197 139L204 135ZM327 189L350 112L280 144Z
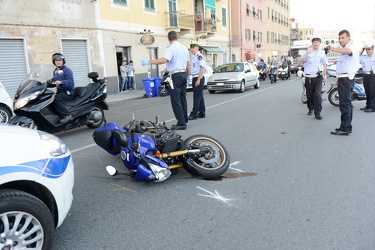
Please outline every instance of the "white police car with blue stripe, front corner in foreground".
M72 204L74 164L56 136L0 124L0 249L51 249Z

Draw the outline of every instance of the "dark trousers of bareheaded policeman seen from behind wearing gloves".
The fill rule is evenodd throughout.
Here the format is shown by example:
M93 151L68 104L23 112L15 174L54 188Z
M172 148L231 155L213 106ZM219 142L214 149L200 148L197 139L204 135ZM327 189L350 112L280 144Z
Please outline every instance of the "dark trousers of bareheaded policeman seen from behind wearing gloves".
M173 89L170 89L172 110L177 120L177 125L186 126L187 123L187 101L185 72L172 74Z

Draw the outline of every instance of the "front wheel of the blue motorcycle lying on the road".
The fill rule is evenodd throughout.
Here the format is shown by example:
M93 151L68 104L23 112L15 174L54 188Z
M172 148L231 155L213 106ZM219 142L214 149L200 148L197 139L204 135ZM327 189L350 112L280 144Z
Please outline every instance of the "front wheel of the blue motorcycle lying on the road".
M204 154L187 154L184 168L194 176L216 179L229 167L229 153L216 139L206 135L193 135L184 141L186 149L202 149Z

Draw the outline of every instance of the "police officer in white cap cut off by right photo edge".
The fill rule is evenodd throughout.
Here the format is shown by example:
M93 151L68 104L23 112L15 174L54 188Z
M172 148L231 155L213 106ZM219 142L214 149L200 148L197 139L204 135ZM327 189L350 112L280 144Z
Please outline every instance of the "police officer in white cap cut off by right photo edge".
M366 55L362 55L366 49ZM375 112L375 54L374 45L365 46L359 53L359 62L363 70L363 87L366 93L366 106L361 108L365 112Z

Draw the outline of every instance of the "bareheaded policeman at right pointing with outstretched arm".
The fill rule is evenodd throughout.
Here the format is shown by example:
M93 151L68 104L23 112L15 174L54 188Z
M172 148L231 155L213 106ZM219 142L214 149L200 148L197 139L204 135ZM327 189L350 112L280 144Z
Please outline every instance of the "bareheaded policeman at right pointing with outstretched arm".
M328 52L340 53L336 66L336 82L339 93L341 111L341 124L331 132L333 135L349 135L352 132L352 90L354 76L358 71L359 53L354 44L350 42L350 33L347 30L339 32L339 43L342 48L328 47Z

